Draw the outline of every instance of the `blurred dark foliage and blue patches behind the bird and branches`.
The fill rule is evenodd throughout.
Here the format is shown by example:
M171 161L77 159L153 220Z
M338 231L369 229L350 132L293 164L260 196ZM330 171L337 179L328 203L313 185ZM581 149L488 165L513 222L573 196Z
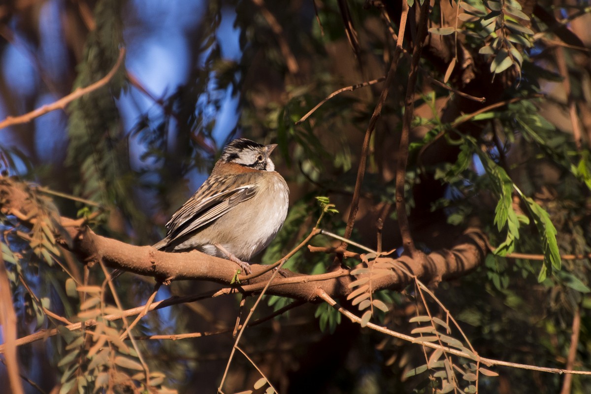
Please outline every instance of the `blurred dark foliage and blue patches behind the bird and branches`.
M405 198L420 249L449 248L467 227L479 227L498 247L476 271L436 290L486 357L591 370L587 7L570 0L431 3ZM274 161L291 190L285 226L260 261L277 261L309 233L320 213L316 196L329 196L340 211L327 216L323 228L342 234L363 135L382 83L337 95L297 122L335 90L385 75L400 15L401 2L369 0L2 2L2 119L95 82L126 48L124 67L108 87L66 110L0 130L2 171L44 191L37 204L46 224L31 230L37 243L18 236L14 217L1 217L18 335L60 324L43 308L69 320L84 311L86 318L99 317L90 313L96 289L79 297L73 285L83 283L82 265L51 249L47 229L56 210L92 217L102 235L150 245L202 183L220 148L236 136L279 144ZM353 232L369 248L376 248L378 220L382 249L401 245L394 176L417 20L415 5L404 41L408 52L372 136ZM331 261L301 250L288 268L321 273ZM102 278L100 267L90 270L90 284L100 285ZM176 283L158 297L214 288ZM144 304L151 289L147 279L122 276L121 307ZM413 288L379 297L391 305L383 323L396 331L410 331L409 318L424 314ZM257 314L264 317L290 302L269 298ZM237 310L237 299L177 305L148 314L136 334L231 333ZM303 305L247 330L244 347L281 393L433 392L432 374L405 377L424 363L419 347L339 320L326 305ZM105 333L121 329L102 324ZM230 333L138 341L141 361L155 374L154 388L213 392L233 343ZM100 386L110 370L106 365L137 367L138 354L111 339L111 353L93 364L79 354L82 341L80 333L60 331L19 347L21 373L38 385L24 383L27 392L51 392L60 382L61 392ZM564 376L498 372L499 377L481 377L479 392L564 390ZM81 386L79 376L92 379ZM227 392L252 387L258 377L252 364L239 359ZM117 379L118 390L140 387L133 386L137 380L125 386L131 380ZM2 365L0 381L6 381ZM564 394L589 393L591 379L575 376L567 389Z

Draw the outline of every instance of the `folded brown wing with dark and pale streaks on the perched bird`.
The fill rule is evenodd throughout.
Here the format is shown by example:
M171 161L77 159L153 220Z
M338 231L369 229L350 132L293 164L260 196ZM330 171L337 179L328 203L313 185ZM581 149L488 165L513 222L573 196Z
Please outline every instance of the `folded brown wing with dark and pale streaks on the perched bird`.
M230 190L207 196L210 188L198 190L183 204L167 223L169 243L183 237L228 213L256 193L254 184L241 185Z

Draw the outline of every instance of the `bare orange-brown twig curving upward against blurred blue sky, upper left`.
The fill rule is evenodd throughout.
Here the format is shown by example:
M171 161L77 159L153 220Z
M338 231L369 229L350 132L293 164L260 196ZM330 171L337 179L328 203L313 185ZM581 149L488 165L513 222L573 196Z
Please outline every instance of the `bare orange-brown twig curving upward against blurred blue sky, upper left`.
M113 78L117 70L119 70L119 66L123 63L123 59L125 58L125 48L121 48L119 50L119 58L115 63L115 66L109 71L106 76L99 79L97 82L90 84L87 87L78 87L74 92L70 93L67 96L61 97L61 99L53 102L51 104L47 104L37 108L31 112L25 113L24 115L20 116L7 116L4 121L0 122L0 129L7 128L8 126L18 125L21 123L27 123L33 121L33 119L38 118L41 115L45 115L48 112L51 112L56 109L65 109L67 105L73 102L76 99L86 95L87 93L93 92L100 87L105 86L109 81Z

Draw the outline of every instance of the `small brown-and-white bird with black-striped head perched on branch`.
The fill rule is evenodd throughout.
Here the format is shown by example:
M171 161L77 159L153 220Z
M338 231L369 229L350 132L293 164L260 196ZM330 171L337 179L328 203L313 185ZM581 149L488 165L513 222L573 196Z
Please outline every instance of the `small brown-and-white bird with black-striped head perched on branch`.
M207 180L166 224L153 245L164 252L199 250L229 259L247 274L248 261L275 238L287 217L289 188L269 155L277 144L230 141Z

